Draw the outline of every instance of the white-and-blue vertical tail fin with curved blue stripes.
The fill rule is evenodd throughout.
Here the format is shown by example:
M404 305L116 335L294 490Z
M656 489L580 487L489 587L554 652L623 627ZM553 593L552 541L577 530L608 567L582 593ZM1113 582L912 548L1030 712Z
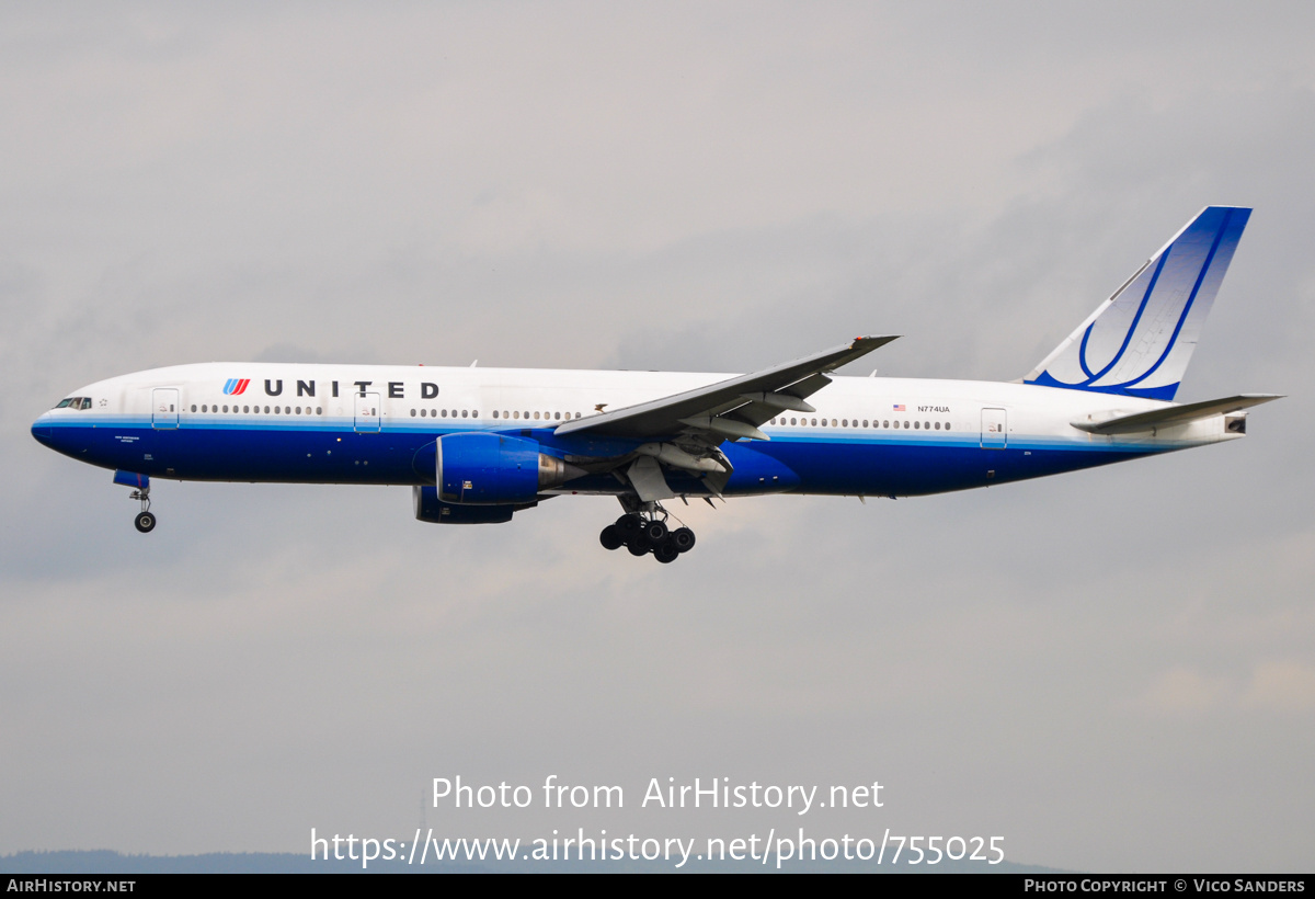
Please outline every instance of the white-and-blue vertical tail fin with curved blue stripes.
M1249 217L1202 209L1023 382L1172 400Z

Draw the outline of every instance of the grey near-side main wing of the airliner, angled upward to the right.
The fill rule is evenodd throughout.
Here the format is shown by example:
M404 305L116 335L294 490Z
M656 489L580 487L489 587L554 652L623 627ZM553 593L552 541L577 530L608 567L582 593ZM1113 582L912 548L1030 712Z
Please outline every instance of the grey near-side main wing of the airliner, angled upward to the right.
M813 412L814 408L803 400L831 383L828 371L885 346L896 337L856 337L844 346L763 371L567 421L555 433L654 438L690 434L713 446L723 440L768 440L759 425L785 411Z

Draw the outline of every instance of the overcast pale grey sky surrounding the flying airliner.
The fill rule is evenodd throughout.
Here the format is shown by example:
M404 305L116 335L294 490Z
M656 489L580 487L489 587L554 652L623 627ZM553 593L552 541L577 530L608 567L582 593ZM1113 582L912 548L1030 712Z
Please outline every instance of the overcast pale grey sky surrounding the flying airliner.
M431 809L454 832L999 833L1308 870L1308 4L9 4L0 852L409 833L433 777L888 784L878 812ZM734 371L857 333L1030 370L1190 216L1253 205L1180 399L1245 441L919 500L170 484L30 434L210 359ZM867 374L864 365L851 374ZM677 507L682 516L686 509Z

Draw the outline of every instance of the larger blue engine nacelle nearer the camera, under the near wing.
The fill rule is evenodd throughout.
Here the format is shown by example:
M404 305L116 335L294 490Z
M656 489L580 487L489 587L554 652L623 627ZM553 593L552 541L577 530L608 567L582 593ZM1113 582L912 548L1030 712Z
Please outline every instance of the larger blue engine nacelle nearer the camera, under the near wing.
M456 505L533 503L540 490L584 474L540 453L538 441L490 433L439 437L434 467L438 499Z

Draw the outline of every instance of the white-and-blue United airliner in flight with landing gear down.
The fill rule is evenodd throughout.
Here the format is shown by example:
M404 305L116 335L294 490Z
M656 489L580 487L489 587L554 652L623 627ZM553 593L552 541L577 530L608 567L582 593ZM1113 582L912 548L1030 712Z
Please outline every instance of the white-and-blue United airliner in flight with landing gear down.
M744 375L212 362L88 384L32 433L112 469L142 533L151 478L408 484L439 524L609 495L602 546L669 563L677 498L918 496L1243 437L1278 395L1173 399L1249 216L1203 209L1015 382L834 374L896 336Z

